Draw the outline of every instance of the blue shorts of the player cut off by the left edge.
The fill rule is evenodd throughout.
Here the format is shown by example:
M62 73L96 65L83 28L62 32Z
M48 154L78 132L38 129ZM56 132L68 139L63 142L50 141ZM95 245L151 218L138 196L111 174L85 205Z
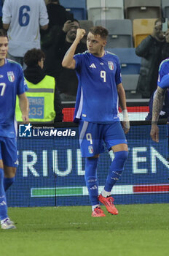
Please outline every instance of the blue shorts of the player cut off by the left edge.
M16 138L0 137L0 159L2 159L4 165L17 167Z

